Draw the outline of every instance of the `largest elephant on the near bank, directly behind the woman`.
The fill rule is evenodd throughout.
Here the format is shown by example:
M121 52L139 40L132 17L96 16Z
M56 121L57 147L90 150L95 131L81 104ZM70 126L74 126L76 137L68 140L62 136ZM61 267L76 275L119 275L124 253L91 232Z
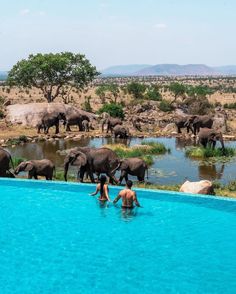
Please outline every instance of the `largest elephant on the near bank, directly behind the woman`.
M119 158L109 148L76 147L72 149L64 160L64 178L67 181L69 165L79 168L77 180L83 182L85 173L89 175L92 183L95 183L93 174L105 173L110 177L110 182L117 183L113 170L119 165Z

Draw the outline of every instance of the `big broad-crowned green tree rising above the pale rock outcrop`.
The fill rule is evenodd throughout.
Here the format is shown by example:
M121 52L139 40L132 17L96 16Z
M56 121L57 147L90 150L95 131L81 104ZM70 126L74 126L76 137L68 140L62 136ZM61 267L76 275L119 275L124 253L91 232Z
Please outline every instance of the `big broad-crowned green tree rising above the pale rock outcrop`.
M48 102L67 95L71 89L84 89L99 73L83 54L71 52L30 55L13 66L10 86L36 87Z

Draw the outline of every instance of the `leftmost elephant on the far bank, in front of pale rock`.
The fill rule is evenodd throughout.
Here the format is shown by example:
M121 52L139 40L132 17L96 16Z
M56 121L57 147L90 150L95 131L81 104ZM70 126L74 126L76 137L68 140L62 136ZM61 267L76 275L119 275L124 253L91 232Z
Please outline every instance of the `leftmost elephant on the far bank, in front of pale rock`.
M59 125L60 120L63 120L65 122L66 116L63 112L52 112L52 113L46 113L42 117L42 121L38 123L37 129L38 133L40 133L41 129L44 129L44 133L48 134L49 128L55 126L56 131L55 134L59 133Z

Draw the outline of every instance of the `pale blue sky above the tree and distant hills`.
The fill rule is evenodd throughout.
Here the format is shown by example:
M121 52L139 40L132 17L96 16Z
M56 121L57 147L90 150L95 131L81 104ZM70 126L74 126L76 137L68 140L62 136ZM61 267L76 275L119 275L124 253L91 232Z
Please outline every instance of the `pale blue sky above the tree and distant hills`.
M117 64L236 64L235 0L7 0L0 70L37 52Z

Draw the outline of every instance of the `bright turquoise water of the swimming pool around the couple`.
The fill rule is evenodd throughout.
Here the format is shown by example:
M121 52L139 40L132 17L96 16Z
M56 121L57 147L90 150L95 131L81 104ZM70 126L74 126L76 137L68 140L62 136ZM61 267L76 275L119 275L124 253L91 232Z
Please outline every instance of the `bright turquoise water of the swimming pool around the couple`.
M0 180L0 293L235 293L236 201ZM111 198L120 189L111 188Z

